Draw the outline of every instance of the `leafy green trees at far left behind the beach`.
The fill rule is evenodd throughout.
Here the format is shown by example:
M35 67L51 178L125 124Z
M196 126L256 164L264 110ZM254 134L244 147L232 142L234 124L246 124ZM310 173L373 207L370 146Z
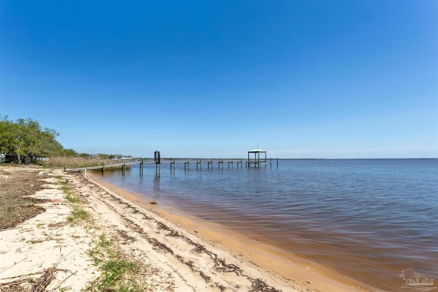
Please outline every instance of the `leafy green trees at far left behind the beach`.
M64 149L56 137L60 134L42 128L36 120L20 118L16 121L0 116L0 155L3 161L32 164L46 157L77 155Z

